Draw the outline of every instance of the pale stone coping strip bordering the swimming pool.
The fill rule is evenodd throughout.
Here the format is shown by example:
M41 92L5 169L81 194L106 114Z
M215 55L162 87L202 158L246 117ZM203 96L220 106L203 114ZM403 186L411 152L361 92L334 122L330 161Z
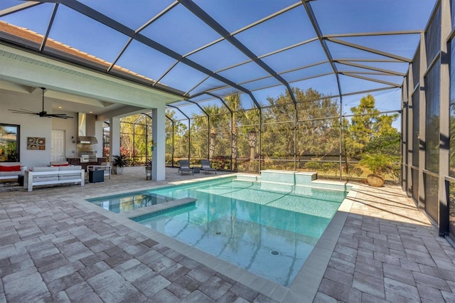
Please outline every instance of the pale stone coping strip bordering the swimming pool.
M170 182L168 184L160 186L135 188L131 191L120 191L116 194L131 193L134 191L142 191L152 188L163 188L173 185L191 184L198 181L223 179L236 175L237 174L227 174L223 176L210 176L198 180ZM171 248L176 252L185 255L186 257L190 257L191 259L196 260L217 272L220 272L232 280L240 282L247 287L256 290L257 292L260 292L267 297L276 300L277 302L313 302L314 297L316 297L319 285L321 284L322 277L326 272L328 262L331 258L331 255L333 254L333 250L341 234L341 230L343 229L343 225L346 222L346 218L348 218L348 213L353 203L351 198L355 198L355 195L357 194L357 191L353 189L358 188L358 185L356 184L348 184L346 182L340 181L326 181L324 183L338 185L343 184L350 186L351 188L348 196L346 196L346 198L341 203L341 206L338 208L338 211L336 211L335 216L333 216L331 222L328 224L326 230L324 230L321 238L319 238L314 249L311 251L309 257L306 259L304 265L301 267L294 281L289 287L279 285L263 277L259 277L258 275L255 275L251 272L247 272L247 270L237 267L236 265L232 265L225 260L218 259L218 257L215 257L213 255L209 255L207 252L203 252L197 248L193 248L190 245L187 245L186 243L182 243L155 230L151 230L145 225L141 225L140 223L131 220L131 217L124 216L121 213L113 213L112 211L108 211L105 208L102 208L85 200L108 195L86 196L81 198L72 198L71 200L77 203L81 208L89 208L90 211L101 213L103 216L111 220L115 220L117 223L123 224L128 228L136 231L137 233L141 233L142 235L151 238L152 240L156 240L162 245L166 245L168 248ZM150 213L150 211L148 213Z

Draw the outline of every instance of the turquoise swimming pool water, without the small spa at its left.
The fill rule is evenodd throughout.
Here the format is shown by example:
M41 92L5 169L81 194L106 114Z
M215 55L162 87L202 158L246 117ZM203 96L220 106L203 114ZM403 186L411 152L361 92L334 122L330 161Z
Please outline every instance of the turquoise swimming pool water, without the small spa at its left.
M164 197L161 203L186 197L197 201L133 220L284 286L292 283L347 194L264 188L235 179L146 193Z

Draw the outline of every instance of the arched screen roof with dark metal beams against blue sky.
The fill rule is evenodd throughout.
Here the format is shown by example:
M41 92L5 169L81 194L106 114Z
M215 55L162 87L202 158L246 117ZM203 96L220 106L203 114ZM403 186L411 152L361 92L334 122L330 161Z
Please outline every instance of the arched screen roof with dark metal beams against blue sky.
M285 92L298 102L291 87L348 105L350 96L385 95L380 110L400 110L403 77L437 4L2 0L0 42L180 95L170 107L186 115L235 92L244 109Z

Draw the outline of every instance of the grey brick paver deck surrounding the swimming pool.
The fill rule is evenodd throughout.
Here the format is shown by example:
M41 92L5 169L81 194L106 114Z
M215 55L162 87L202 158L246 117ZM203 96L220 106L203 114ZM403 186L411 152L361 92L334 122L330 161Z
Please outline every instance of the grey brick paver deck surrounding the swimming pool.
M293 290L306 282L287 288L242 270L225 275L222 262L197 260L166 237L80 202L206 176L167 169L166 181L156 182L143 170L83 187L1 192L0 302L309 301ZM319 269L314 302L455 302L455 250L424 213L400 188L355 192L328 266Z

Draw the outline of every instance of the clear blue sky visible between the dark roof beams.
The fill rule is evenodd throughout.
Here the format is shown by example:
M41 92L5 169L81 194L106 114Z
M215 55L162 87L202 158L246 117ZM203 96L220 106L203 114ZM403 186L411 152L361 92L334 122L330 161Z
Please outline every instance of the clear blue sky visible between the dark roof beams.
M80 0L80 2L134 31L172 4L171 0ZM316 16L321 33L330 36L422 30L435 2L436 0L316 0L309 2L309 6ZM2 0L0 10L22 3L23 1L18 0ZM328 57L316 39L316 33L301 1L195 0L194 3L291 86L301 89L312 87L324 95L338 95L338 84L333 68L330 63L324 63ZM50 3L41 4L15 14L0 16L0 21L29 28L44 35L53 7L54 5ZM245 26L281 10L284 10L282 14L242 30ZM210 72L215 72L251 90L261 104L267 97L277 97L284 92L284 85L279 83L279 80L270 77L269 73L256 63L248 63L250 58L247 55L223 40L220 33L207 26L181 4L169 9L164 16L156 18L156 21L146 26L140 34L178 55L186 56ZM108 62L116 60L129 40L123 33L108 28L65 5L58 7L49 38ZM412 58L419 42L419 33L331 38L343 41L338 43L326 40L326 46L333 59L348 59L355 64L406 73L407 63L386 63L383 60L390 58L385 55L352 48L345 43ZM214 43L215 41L218 43ZM192 53L203 46L207 47ZM294 47L290 48L291 46ZM283 50L286 48L289 49ZM363 61L355 60L360 58ZM213 94L221 97L227 92L232 92L232 88L216 90L225 84L213 77L208 78L206 73L194 70L188 65L176 63L175 58L159 53L139 41L130 43L117 61L117 65L123 68L160 80L161 83L188 92L190 95L197 95L210 88L213 89ZM384 83L363 80L363 77L375 78L385 83L402 82L400 76L379 75L371 73L371 70L341 62L335 65L339 72L345 73L339 77L343 94L387 87ZM360 78L353 77L352 74ZM259 90L261 87L264 89ZM373 95L379 110L400 109L400 89L392 88L375 92ZM343 111L358 105L362 96L343 97ZM254 106L250 97L244 95L242 98L245 107ZM201 95L194 100L209 101L213 100L213 97Z

